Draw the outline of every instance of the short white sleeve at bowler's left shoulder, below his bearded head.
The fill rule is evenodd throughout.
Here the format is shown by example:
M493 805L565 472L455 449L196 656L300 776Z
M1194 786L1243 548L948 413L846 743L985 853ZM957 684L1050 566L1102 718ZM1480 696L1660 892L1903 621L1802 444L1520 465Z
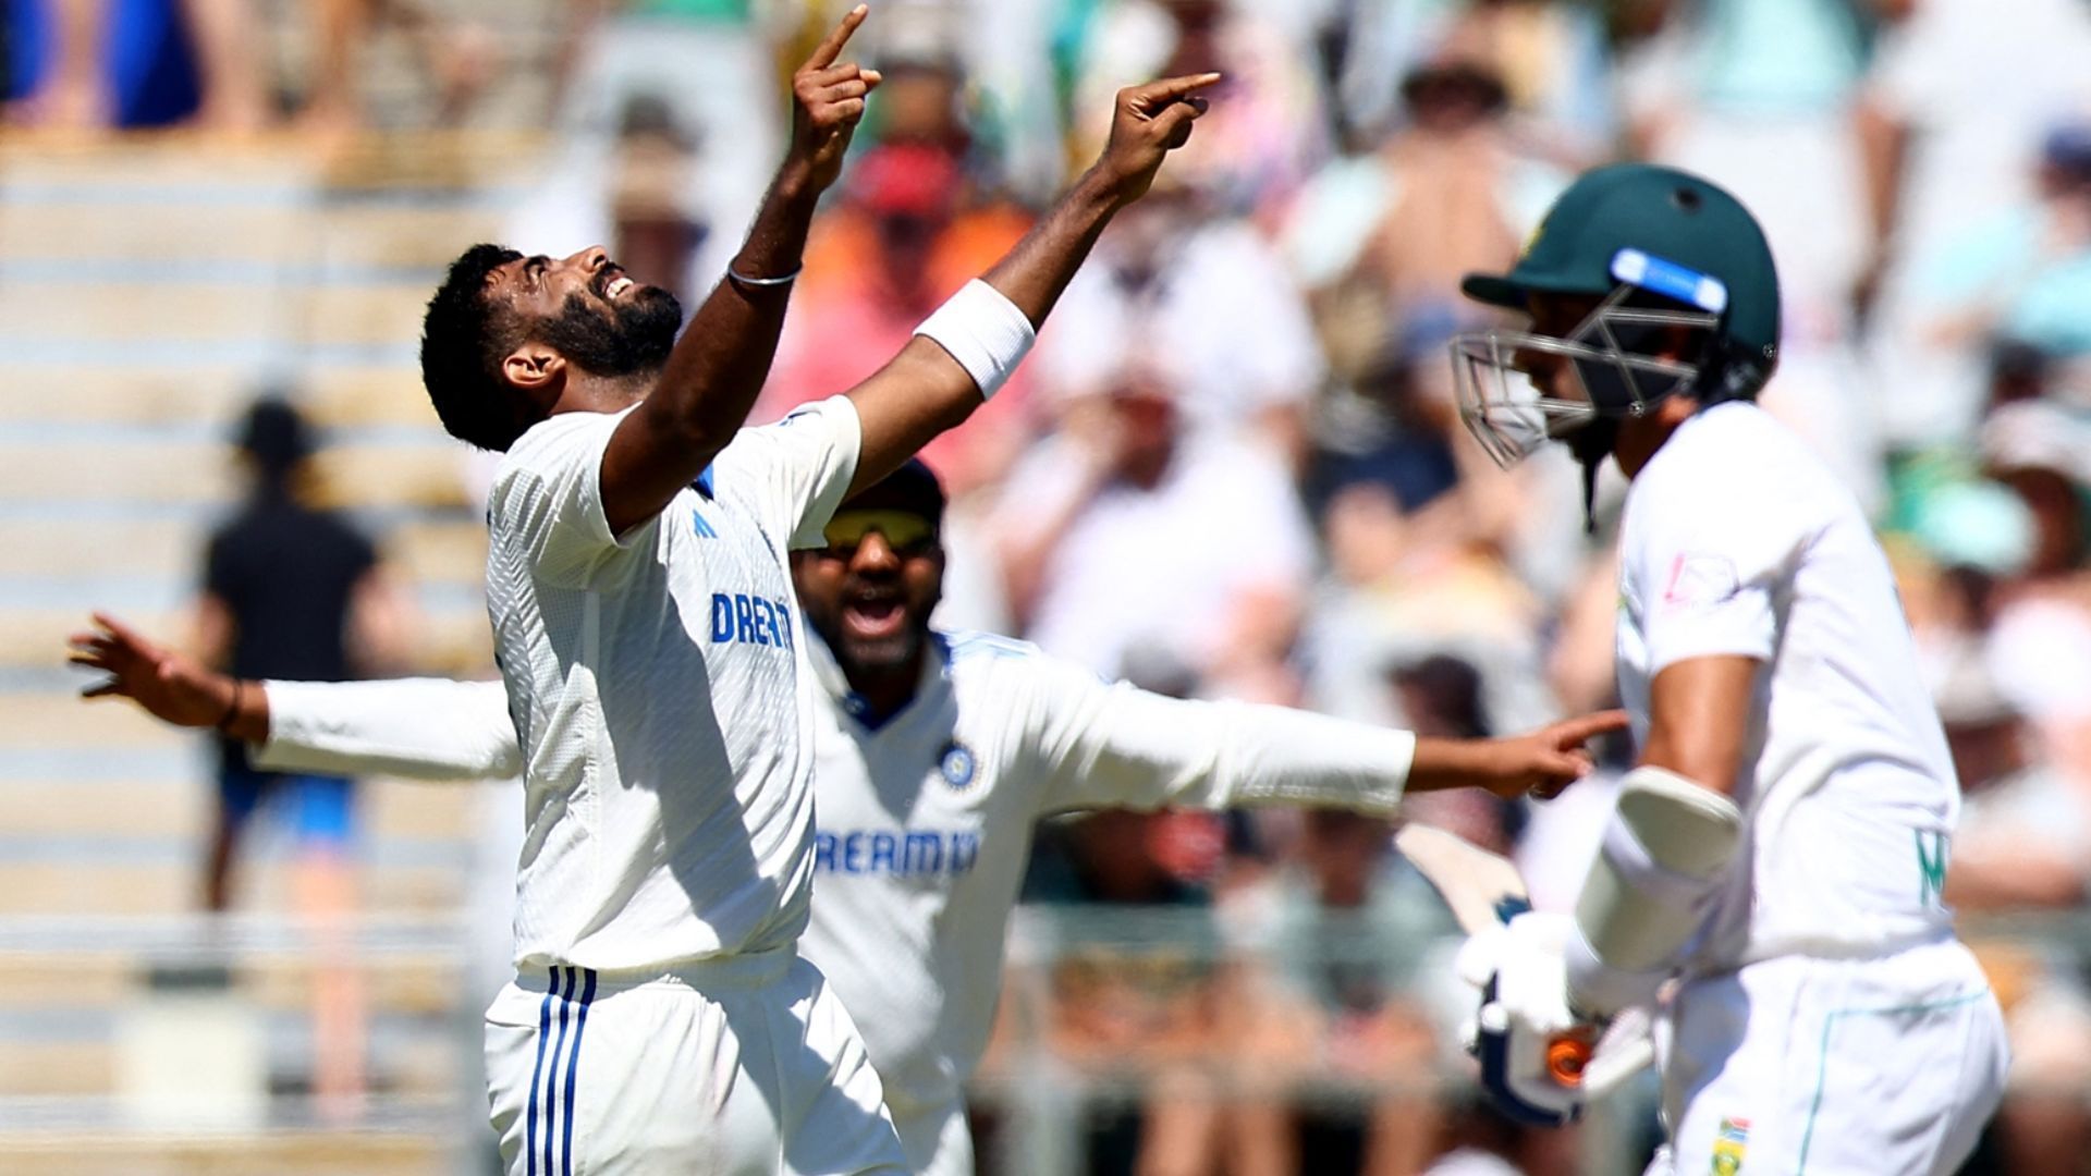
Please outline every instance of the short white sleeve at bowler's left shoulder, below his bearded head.
M508 450L487 492L496 552L556 584L585 586L617 552L654 532L654 519L611 534L602 454L623 412L562 412Z

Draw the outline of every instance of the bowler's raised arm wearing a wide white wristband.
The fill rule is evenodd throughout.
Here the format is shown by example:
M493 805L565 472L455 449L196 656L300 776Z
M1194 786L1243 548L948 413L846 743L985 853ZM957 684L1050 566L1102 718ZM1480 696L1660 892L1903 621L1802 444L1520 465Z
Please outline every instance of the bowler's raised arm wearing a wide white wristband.
M1102 157L983 276L999 295L999 301L989 297L985 303L983 326L995 337L983 339L983 352L999 352L997 356L953 356L947 343L958 339L947 333L939 333L945 337L943 343L916 335L887 366L849 391L864 425L851 494L899 469L937 433L956 427L981 406L981 383L968 366L976 368L991 358L1014 364L1014 358L1022 356L1031 333L1046 322L1060 291L1081 268L1110 218L1144 197L1163 157L1190 140L1190 123L1204 113L1204 98L1194 94L1213 82L1219 82L1219 73L1165 77L1119 90L1110 142ZM939 316L958 314L968 295L970 289L962 291ZM981 310L981 299L972 299L964 314L970 318ZM1010 318L1012 314L1020 316L1020 322ZM956 326L966 329L972 322Z

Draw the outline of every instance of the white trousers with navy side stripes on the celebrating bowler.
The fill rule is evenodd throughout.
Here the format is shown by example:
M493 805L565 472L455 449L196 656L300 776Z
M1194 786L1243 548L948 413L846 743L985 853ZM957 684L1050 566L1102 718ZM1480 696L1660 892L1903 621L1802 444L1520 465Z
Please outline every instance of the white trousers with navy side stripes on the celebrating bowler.
M487 1096L508 1176L907 1172L855 1023L795 952L516 975Z

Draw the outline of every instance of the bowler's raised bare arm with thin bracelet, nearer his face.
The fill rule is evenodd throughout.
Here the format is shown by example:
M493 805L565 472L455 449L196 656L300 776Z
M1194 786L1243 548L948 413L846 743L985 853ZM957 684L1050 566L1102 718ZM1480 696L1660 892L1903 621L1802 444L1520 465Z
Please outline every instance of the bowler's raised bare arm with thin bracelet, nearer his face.
M851 8L792 75L790 151L746 243L602 454L602 511L613 534L654 517L705 473L769 379L813 205L841 174L864 98L880 82L874 69L836 65L864 15L864 4Z

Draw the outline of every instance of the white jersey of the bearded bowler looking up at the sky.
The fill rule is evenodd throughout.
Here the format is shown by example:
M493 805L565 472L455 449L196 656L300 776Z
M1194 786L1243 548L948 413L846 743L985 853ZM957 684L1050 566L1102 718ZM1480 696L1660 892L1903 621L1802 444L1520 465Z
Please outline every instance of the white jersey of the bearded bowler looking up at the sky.
M487 611L525 762L516 965L654 969L790 948L811 881L811 676L788 546L818 546L857 465L824 400L742 429L611 536L623 414L527 431L487 496Z

